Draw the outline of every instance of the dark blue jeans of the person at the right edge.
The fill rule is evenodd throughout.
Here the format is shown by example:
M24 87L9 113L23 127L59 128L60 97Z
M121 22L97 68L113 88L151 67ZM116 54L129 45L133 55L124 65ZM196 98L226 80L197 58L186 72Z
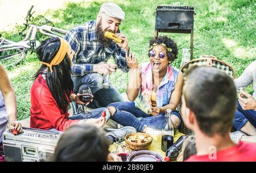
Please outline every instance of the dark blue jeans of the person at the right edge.
M240 103L237 101L237 110L235 113L233 127L237 130L241 130L247 121L256 128L256 111L243 110Z

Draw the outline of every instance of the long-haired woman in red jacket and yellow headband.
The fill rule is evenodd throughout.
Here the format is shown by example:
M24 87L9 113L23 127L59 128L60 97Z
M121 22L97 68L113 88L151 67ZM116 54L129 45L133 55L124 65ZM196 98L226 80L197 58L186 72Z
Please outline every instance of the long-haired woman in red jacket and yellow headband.
M31 128L64 131L72 124L86 121L99 128L106 123L110 115L108 109L98 108L91 111L92 119L85 119L82 113L69 117L69 102L85 104L79 94L73 94L71 65L73 50L68 42L58 37L42 41L36 49L42 66L35 74L31 87ZM101 113L106 111L106 117Z

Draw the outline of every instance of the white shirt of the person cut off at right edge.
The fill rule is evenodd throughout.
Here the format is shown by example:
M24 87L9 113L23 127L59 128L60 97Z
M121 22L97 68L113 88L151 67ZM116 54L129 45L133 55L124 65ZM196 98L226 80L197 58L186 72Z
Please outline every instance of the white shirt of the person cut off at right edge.
M245 88L253 83L253 98L256 99L256 60L246 67L241 76L234 80L234 83L237 92L240 92L240 87Z

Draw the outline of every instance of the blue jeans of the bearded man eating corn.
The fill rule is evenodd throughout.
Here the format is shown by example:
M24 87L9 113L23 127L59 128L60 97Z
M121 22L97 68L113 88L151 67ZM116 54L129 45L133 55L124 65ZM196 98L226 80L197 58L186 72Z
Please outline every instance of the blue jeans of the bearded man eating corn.
M80 93L84 87L90 87L94 96L93 102L89 104L89 107L99 108L106 107L110 103L123 102L123 98L117 89L110 84L109 87L103 85L105 77L98 73L90 73L84 76L72 77L74 83L74 92Z

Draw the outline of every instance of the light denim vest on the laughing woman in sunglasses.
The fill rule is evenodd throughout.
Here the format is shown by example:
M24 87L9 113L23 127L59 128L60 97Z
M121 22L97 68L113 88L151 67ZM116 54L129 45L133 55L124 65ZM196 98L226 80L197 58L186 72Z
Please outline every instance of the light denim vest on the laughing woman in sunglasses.
M151 94L153 88L152 82L152 67L150 63L141 65L141 88L139 95L135 99L135 107L141 109L143 112L150 114ZM166 106L171 99L172 91L177 82L177 75L179 70L171 65L167 66L167 73L164 75L158 89L156 90L156 106ZM160 113L160 115L163 113Z

